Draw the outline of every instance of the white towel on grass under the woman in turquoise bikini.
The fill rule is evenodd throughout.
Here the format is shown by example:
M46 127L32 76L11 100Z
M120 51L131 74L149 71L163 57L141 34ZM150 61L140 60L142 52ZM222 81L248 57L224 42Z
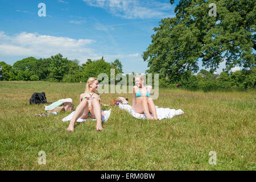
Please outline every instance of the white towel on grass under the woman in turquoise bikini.
M175 115L184 114L184 112L181 109L175 110L175 109L169 109L169 108L159 108L158 106L155 106L155 107L156 107L156 114L158 115L159 120L164 119L164 118L171 119ZM128 113L133 115L133 117L135 117L135 118L147 119L146 114L135 113L135 111L133 110L133 107L131 107L130 105L119 104L119 108L127 110Z

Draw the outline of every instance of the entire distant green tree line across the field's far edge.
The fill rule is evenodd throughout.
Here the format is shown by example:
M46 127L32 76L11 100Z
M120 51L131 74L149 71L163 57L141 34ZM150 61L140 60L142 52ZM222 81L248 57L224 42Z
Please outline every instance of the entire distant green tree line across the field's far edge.
M115 76L123 73L122 63L118 59L111 63L106 62L104 57L94 61L88 59L85 64L80 65L78 60L68 60L60 53L47 59L27 57L16 61L13 66L1 61L0 66L3 80L6 81L86 82L89 77L98 77L100 73L106 73L110 78L110 69L115 69ZM135 75L134 72L132 74ZM147 74L145 76L147 77ZM152 76L154 86L154 74ZM201 69L197 75L190 71L177 77L163 77L161 74L159 76L160 87L176 87L179 84L182 88L192 90L246 90L255 87L256 67L230 73L223 71L220 75ZM126 75L126 78L129 80L129 75ZM115 80L115 84L121 80Z

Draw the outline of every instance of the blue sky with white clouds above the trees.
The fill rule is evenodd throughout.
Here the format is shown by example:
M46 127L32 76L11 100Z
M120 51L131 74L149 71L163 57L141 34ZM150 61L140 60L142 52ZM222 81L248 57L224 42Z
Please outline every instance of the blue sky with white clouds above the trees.
M39 17L39 3L46 17ZM174 17L169 0L0 0L0 61L13 65L28 56L108 62L119 59L124 73L144 73L143 51L152 28ZM201 68L201 67L200 67ZM220 68L221 70L221 68Z

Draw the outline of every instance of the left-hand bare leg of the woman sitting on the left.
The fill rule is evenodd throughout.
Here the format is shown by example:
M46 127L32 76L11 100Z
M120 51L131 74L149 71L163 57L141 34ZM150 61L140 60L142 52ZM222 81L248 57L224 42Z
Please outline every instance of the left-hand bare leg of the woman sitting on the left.
M74 131L75 122L82 115L82 113L84 113L84 110L86 110L86 112L88 113L88 101L87 100L83 100L77 106L76 111L69 123L68 128L67 128L67 131Z

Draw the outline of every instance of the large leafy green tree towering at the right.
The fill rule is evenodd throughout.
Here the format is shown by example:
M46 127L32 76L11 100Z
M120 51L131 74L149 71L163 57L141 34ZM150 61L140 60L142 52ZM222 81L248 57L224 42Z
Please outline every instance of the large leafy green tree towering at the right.
M217 16L209 16L210 3L216 4ZM175 13L175 18L164 18L154 28L152 43L143 52L148 73L179 80L197 72L199 60L211 72L222 61L225 70L255 65L255 1L180 0Z

